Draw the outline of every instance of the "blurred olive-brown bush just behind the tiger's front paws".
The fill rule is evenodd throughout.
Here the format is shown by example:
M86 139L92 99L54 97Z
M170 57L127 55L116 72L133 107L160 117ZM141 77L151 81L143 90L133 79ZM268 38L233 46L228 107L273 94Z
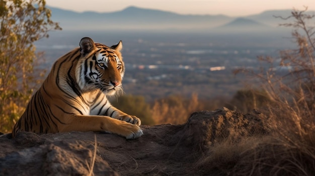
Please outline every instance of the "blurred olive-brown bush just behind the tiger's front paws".
M145 102L143 96L123 95L118 97L117 101L111 102L119 110L140 118L142 125L154 124L151 117L150 105Z

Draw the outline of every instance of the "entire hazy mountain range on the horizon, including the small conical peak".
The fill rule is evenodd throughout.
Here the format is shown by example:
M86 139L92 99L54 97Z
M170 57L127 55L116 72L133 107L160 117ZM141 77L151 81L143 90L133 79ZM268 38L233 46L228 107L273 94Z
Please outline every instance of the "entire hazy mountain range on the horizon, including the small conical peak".
M52 11L52 20L59 22L65 31L253 32L273 30L271 27L283 22L273 16L291 15L290 10L266 11L245 18L232 18L224 15L180 15L137 7L112 13L78 13L48 8Z

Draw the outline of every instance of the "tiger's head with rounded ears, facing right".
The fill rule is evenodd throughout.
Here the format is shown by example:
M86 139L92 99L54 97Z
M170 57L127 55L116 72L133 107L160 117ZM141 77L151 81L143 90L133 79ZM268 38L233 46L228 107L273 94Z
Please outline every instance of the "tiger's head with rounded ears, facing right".
M99 89L106 95L122 91L125 73L122 42L108 47L85 37L80 41L81 59L76 67L76 79L83 91Z

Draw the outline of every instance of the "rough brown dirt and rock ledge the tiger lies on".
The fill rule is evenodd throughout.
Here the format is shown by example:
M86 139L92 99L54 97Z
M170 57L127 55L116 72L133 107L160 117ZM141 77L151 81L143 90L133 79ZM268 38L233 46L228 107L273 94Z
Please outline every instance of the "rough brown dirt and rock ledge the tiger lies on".
M268 133L268 126L263 114L221 108L193 113L183 125L141 126L144 135L135 140L94 132L5 134L0 175L88 175L93 161L94 175L198 175L195 163L216 142Z

